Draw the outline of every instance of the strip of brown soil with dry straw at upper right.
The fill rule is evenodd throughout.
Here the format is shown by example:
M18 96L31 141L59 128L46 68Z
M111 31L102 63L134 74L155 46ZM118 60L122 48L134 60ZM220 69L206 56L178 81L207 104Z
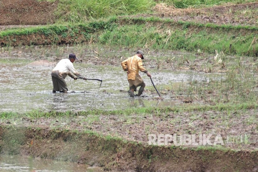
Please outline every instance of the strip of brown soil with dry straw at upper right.
M236 5L213 6L209 8L200 9L176 9L173 6L167 6L164 3L161 3L153 8L153 10L158 13L158 16L169 17L175 21L181 20L193 21L198 23L231 24L244 26L258 25L257 9L258 2ZM247 13L250 14L247 15Z

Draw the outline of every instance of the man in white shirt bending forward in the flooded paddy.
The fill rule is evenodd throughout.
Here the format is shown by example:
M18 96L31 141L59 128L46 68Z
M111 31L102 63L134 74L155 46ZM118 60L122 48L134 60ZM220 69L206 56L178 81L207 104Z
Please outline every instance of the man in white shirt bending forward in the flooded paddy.
M56 67L52 70L51 76L53 82L53 93L57 91L67 93L68 89L66 82L64 80L67 75L69 75L74 80L77 80L77 78L74 75L83 78L84 80L87 80L73 67L72 63L75 60L78 60L78 58L76 58L75 54L71 53L69 54L68 58L60 60L60 62L58 62ZM74 75L72 75L72 73Z

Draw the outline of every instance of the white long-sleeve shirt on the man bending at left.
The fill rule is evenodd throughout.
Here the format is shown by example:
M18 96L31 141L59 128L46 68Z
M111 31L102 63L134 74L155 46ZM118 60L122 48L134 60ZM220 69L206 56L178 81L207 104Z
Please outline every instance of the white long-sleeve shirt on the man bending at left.
M58 62L56 67L52 70L51 75L60 79L65 79L67 75L73 78L74 76L71 73L80 78L84 78L79 72L75 70L72 62L68 58L65 58Z

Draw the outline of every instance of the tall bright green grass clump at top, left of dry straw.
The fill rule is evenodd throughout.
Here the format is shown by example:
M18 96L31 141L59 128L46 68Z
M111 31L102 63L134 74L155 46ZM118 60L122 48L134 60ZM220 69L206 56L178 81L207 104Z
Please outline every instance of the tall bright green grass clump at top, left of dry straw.
M55 12L59 21L83 22L112 15L144 13L152 0L60 0Z

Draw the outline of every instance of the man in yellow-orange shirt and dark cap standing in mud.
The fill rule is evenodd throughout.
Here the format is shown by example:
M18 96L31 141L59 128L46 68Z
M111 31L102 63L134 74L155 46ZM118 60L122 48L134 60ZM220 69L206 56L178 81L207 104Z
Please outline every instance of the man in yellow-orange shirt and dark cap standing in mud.
M127 60L121 62L123 70L127 71L130 97L134 97L134 92L136 91L137 87L141 86L137 96L141 96L145 88L145 83L139 75L139 70L146 73L147 76L151 76L150 73L142 65L142 59L144 59L143 55L143 52L141 50L138 50L134 56L127 58Z

